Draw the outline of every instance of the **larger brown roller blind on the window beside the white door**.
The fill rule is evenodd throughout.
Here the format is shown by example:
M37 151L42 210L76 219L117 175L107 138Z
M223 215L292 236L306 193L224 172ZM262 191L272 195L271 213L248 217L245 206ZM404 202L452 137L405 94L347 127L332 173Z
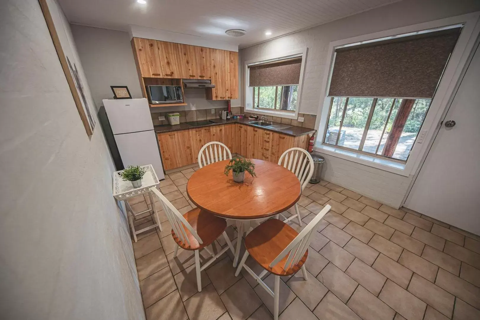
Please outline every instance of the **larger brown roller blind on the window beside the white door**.
M338 48L328 95L432 98L460 30Z

